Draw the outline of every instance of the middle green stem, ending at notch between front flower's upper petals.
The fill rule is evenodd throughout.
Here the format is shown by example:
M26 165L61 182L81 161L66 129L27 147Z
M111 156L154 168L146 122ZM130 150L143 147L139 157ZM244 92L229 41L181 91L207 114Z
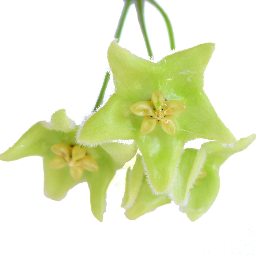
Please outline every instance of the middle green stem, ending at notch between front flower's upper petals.
M149 42L149 39L148 39L146 24L145 24L144 0L137 0L135 2L135 7L136 7L136 10L137 10L138 21L139 21L140 29L142 31L143 38L144 38L144 41L145 41L145 44L146 44L148 56L151 59L154 59L153 52L152 52L150 42Z

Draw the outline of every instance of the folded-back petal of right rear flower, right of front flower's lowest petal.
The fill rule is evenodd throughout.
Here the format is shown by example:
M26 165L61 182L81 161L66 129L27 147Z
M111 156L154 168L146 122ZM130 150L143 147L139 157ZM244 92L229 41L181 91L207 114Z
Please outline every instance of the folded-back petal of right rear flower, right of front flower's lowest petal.
M200 172L205 159L205 150L185 149L169 191L172 195L172 200L177 204L187 203L189 190L195 181L195 177Z

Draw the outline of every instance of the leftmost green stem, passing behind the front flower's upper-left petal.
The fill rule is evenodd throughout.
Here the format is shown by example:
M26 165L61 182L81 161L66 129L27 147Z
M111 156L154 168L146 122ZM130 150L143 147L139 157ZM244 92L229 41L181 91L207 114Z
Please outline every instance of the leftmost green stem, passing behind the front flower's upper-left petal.
M125 22L125 19L127 17L127 14L128 14L128 11L129 11L129 8L130 8L131 4L132 4L132 0L124 0L124 7L123 7L123 10L121 12L121 16L119 18L119 21L118 21L116 32L114 34L114 38L117 39L117 42L119 42L119 40L120 40L121 33L122 33L123 27L124 27L124 22ZM107 86L108 86L109 78L110 78L110 73L107 71L105 76L104 76L104 79L103 79L103 83L102 83L102 86L101 86L101 91L99 92L98 99L97 99L97 101L95 103L95 106L93 108L93 112L96 111L97 108L103 102L105 91L106 91Z

